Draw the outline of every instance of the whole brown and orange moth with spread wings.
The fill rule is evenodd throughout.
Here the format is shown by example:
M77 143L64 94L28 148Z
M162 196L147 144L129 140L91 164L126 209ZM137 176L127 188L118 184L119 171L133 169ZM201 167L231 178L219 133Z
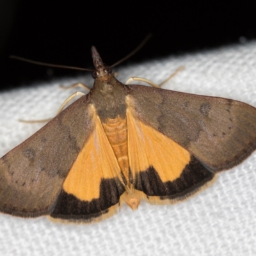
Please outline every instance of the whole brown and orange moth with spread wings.
M0 211L90 223L173 204L256 148L256 109L120 83L92 47L93 88L0 159Z

